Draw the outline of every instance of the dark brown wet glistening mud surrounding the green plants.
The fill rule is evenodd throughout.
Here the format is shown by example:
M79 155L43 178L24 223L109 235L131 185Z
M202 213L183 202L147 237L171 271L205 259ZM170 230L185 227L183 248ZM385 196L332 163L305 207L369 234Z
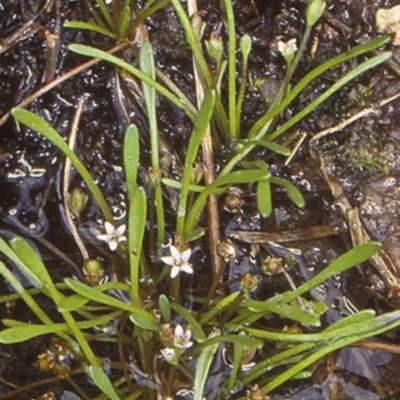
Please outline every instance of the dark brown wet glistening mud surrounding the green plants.
M137 2L138 11L142 2ZM218 24L223 25L224 14L217 2L199 0L199 8L207 23L205 37L209 37ZM377 36L375 13L380 7L388 8L395 1L328 1L327 11L321 23L314 29L311 43L296 71L293 82L329 58L351 47ZM47 7L47 5L49 5ZM240 0L234 3L238 35L245 33L252 38L253 49L249 73L253 85L246 94L243 109L242 134L248 132L252 123L265 112L267 103L284 77L285 64L277 50L278 40L300 38L304 30L305 1ZM70 43L85 43L102 49L115 43L110 38L80 30L64 28L66 20L87 20L89 13L78 1L26 1L4 0L0 4L0 117L18 105L27 96L66 71L86 60L70 53ZM157 66L169 76L195 102L191 53L184 42L183 31L172 7L165 7L146 21L149 40L154 47ZM49 34L59 35L59 48L49 53ZM226 39L222 28L222 37ZM252 155L254 159L265 159L273 175L283 177L295 184L305 197L306 205L299 209L279 187L273 189L274 210L269 218L261 218L255 204L255 187L242 187L243 213L233 215L221 206L221 232L224 239L230 231L288 232L293 229L313 226L337 228L339 234L315 237L275 245L262 244L255 252L254 246L243 240L232 239L237 257L229 262L226 281L229 290L238 286L238 277L252 273L260 277L261 283L254 297L264 300L275 293L287 290L287 281L281 276L264 276L259 265L268 255L293 259L289 274L295 284L312 277L329 265L340 254L352 247L348 225L332 196L327 182L322 177L317 160L311 157L309 139L317 132L334 126L360 111L370 103L391 96L400 89L400 53L391 45L394 57L391 63L380 66L347 85L319 109L295 126L280 143L290 135L306 132L307 138L293 160L284 165L284 159L271 157L267 151ZM137 46L120 52L133 64L137 63ZM357 62L360 62L357 60ZM355 62L327 72L316 80L285 111L281 121L289 119L302 109L303 104L314 99L325 88L355 66ZM210 62L210 64L212 64ZM146 180L149 166L149 139L146 114L140 100L134 98L127 88L127 115L118 102L117 85L120 81L116 68L105 63L95 64L53 90L31 102L28 108L46 119L61 135L68 137L77 100L84 96L84 109L76 143L76 152L89 168L92 177L101 188L118 222L125 222L127 197L122 166L122 141L128 122L134 122L141 133L140 184L150 191ZM255 84L258 82L258 84ZM360 216L371 238L381 241L392 257L395 268L400 268L399 253L399 183L398 163L400 159L400 120L397 109L399 101L383 107L378 113L363 118L335 134L324 137L318 143L318 152L323 156L329 175L344 188L351 204L358 207ZM191 123L181 110L160 98L158 105L160 131L176 160L183 159ZM37 246L55 282L77 275L83 262L82 255L73 240L62 198L62 175L64 158L59 151L37 133L18 126L9 117L0 126L0 233L7 239L20 235ZM173 149L173 151L171 150ZM215 160L220 169L231 149L222 143L216 147ZM168 164L169 165L169 164ZM166 171L171 177L179 175L179 168ZM70 187L86 190L80 177L72 172ZM173 236L175 211L173 199L165 193L167 208L167 232ZM96 241L93 230L101 230L103 220L95 202L80 216L78 227L91 257L101 257L108 268L112 261L105 246ZM203 226L205 220L201 221ZM51 245L50 245L50 244ZM58 249L55 254L53 247ZM208 265L209 255L206 241L199 241L194 258L196 265ZM61 257L60 257L60 252ZM254 255L255 254L255 255ZM10 268L12 266L9 264ZM323 300L329 307L323 317L330 324L349 313L348 299L359 309L372 307L381 312L388 305L379 296L371 295L371 287L378 285L370 276L376 276L372 266L363 266L364 272L350 271L336 277L318 288L312 296ZM183 281L186 290L202 291L210 285L211 273L203 268L195 282ZM369 288L369 289L368 289ZM0 296L9 294L8 286L0 280ZM385 288L383 288L385 293ZM57 320L57 313L48 301L38 297L46 312ZM30 311L20 302L8 302L0 308L0 318L36 321ZM271 326L281 324L269 321ZM55 377L51 372L40 372L37 357L46 351L50 337L41 337L20 345L0 345L0 398L33 399L44 398L53 392L57 399L80 398L69 378ZM398 333L391 332L383 338L386 342L398 342ZM111 344L101 343L96 354L119 361L118 349ZM262 355L260 355L262 356ZM285 385L276 393L277 398L291 399L397 399L399 359L391 353L366 349L344 349L321 361L314 367L312 379L295 381ZM98 391L88 383L85 374L73 362L72 379L84 389L89 398L98 396ZM222 375L229 373L226 370ZM113 371L113 379L120 375ZM218 374L216 373L216 376ZM35 384L35 382L37 384ZM213 379L214 382L214 379ZM215 383L217 382L217 383ZM214 386L218 384L215 378ZM35 386L37 385L37 386ZM210 383L212 386L212 384ZM18 388L24 388L17 393ZM215 387L209 387L213 393ZM237 394L243 396L244 391ZM176 397L178 398L178 397ZM181 397L179 397L181 398ZM218 398L210 394L211 398ZM232 397L234 398L234 397Z

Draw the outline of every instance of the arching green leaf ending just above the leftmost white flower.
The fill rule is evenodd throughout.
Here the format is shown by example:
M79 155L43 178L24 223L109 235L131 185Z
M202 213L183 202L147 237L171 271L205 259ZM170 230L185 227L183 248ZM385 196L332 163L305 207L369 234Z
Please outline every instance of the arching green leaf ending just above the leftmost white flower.
M39 132L46 139L50 140L71 160L72 165L77 169L82 179L85 181L106 219L108 221L113 221L113 215L108 208L107 202L100 192L100 189L90 176L89 171L82 164L77 155L64 142L63 138L46 121L28 110L24 110L23 108L14 108L11 111L11 114L21 124L24 124L28 128Z

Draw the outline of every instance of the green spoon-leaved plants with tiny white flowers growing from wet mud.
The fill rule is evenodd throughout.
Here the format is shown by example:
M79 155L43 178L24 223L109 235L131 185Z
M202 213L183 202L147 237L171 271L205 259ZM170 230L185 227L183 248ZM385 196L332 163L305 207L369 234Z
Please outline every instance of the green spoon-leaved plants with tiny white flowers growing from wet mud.
M129 2L115 3L122 4L120 14L116 12L116 8L110 14L104 1L96 0L96 2L105 19L102 25L69 23L68 26L91 29L114 39L127 37L130 32L129 27L133 26L128 22ZM166 2L159 2L157 6L160 3ZM275 143L275 139L352 79L387 60L391 53L382 52L367 58L343 75L311 104L305 105L290 120L276 126L275 122L282 111L307 85L325 71L378 49L388 41L388 38L374 39L334 57L309 72L290 88L293 72L304 51L311 29L324 9L325 3L322 0L310 1L307 8L306 31L299 50L296 52L294 47L288 49L288 43L282 43L282 55L287 62L287 72L278 94L249 132L242 132L240 115L246 89L247 58L251 46L249 37L244 36L240 40L243 70L241 86L236 93L236 32L231 1L225 0L229 31L228 60L223 59L222 42L217 39L217 42L208 44L208 52L213 55L217 63L215 77L210 74L205 54L199 44L199 34L193 28L181 2L171 0L171 3L183 25L187 42L193 50L196 65L205 83L205 95L198 109L188 103L186 98L181 97L180 92L173 86L163 86L156 81L153 52L149 42L144 43L140 50L139 68L100 49L81 44L70 46L73 52L101 58L126 70L137 77L142 84L149 121L151 151L149 181L154 201L149 201L144 184L138 178L139 132L135 125L129 125L123 145L129 201L126 232L123 226L117 228L114 225L112 212L93 181L90 171L63 138L39 116L20 108L13 110L12 115L17 121L39 132L70 159L103 213L106 234L96 236L105 241L110 251L115 252L119 258L115 274L108 282L103 279L93 279L96 276L103 276L103 272L99 273L97 269L101 266L95 264L93 269L86 269L86 282L67 278L59 284L53 282L39 254L27 241L20 237L9 241L0 238L0 252L33 287L27 289L22 286L6 264L0 262L0 274L15 291L15 294L2 296L0 301L24 300L39 321L28 324L10 319L3 320L7 328L0 332L0 342L17 343L36 336L54 334L65 343L63 346L68 350L61 356L49 349L47 356L42 356L38 363L43 368L53 370L58 376L72 380L68 375L69 364L65 362L65 358L74 357L80 363L82 372L86 372L103 392L103 395L99 396L100 399L105 398L104 396L110 399L155 399L157 393L167 397L172 394L169 391L172 390L173 383L178 382L178 387L182 390L188 387L188 390L193 390L193 398L200 400L214 389L207 387L207 381L213 360L217 357L218 350L223 348L230 374L221 377L219 398L231 398L232 393L241 396L243 391L237 389L237 383L244 388L257 385L257 390L265 395L289 379L298 378L302 372L307 372L312 363L326 354L400 325L400 312L397 310L379 316L376 316L373 310L363 310L348 315L316 333L277 332L261 323L265 316L275 314L291 321L299 330L306 330L306 327L320 328L320 317L327 306L319 301L307 300L305 294L332 276L367 261L379 250L380 245L370 242L354 248L298 288L263 301L254 300L251 296L258 285L255 276L244 275L241 277L240 286L226 294L220 285L223 275L221 267L215 271L214 281L206 297L200 298L193 293L182 294L180 272L190 273L196 278L204 268L195 265L190 257L194 253L195 240L204 234L204 228L199 226L199 218L210 195L224 193L231 186L243 183L257 185L258 208L262 216L266 217L272 210L270 185L276 184L287 190L296 205L304 204L301 193L293 184L272 176L266 162L248 159L248 155L259 146L277 154L288 155L289 149ZM151 7L156 7L153 1L148 4L149 10ZM94 19L98 18L100 17L94 16ZM135 24L135 21L132 24ZM221 95L221 79L226 68L228 68L227 110L223 107ZM180 181L161 178L156 91L183 109L193 121ZM224 143L233 145L235 151L212 182L199 185L199 182L193 179L193 164L199 159L199 149L209 126L215 127L213 134ZM162 197L162 189L165 186L162 185L179 193L176 228L174 232L169 232L174 240L166 246L169 249L167 254L163 252L166 236L164 216L166 205ZM147 254L144 238L146 235L150 236L150 231L154 229L153 226L146 227L150 208L154 208L157 215L156 222L152 223L157 225L157 241L156 244L150 241L154 248L152 254ZM93 236L95 237L95 234ZM226 264L233 256L229 248L221 254L224 254L221 256L223 258L221 264ZM164 267L163 263L166 264ZM39 293L51 300L57 314L65 322L54 322L46 314L35 300L35 295ZM120 327L117 331L114 328L118 324ZM93 334L93 332L99 333ZM128 362L121 363L123 374L119 379L113 380L107 374L106 362L95 354L93 341L111 342L130 348L132 357ZM257 351L264 348L267 343L284 343L286 346L283 348L276 346L273 355L255 357ZM50 361L45 366L43 360L49 357ZM110 366L117 368L117 364L112 361ZM287 368L283 372L282 370L275 372L278 366ZM156 377L152 378L154 375ZM162 380L160 376L166 378ZM143 384L144 380L146 382ZM79 387L77 390L80 390ZM80 391L80 394L85 398L85 393Z

